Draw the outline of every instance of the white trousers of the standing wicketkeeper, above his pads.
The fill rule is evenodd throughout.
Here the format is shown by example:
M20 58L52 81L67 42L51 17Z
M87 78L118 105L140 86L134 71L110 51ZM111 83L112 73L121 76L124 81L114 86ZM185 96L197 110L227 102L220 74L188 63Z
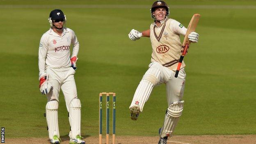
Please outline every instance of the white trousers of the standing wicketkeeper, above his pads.
M59 90L62 89L66 107L69 112L69 104L73 98L77 98L74 74L72 67L47 68L48 81L53 85L53 90L46 94L48 101L56 100L59 102Z

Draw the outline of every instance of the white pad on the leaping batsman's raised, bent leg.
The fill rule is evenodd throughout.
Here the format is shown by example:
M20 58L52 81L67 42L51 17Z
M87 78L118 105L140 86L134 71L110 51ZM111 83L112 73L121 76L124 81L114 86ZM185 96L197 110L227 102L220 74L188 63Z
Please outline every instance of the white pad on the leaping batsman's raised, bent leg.
M148 101L153 87L156 86L160 81L160 74L160 70L154 67L151 67L148 69L148 71L146 71L142 80L139 82L130 107L138 105L140 111L142 112L144 104L146 101Z

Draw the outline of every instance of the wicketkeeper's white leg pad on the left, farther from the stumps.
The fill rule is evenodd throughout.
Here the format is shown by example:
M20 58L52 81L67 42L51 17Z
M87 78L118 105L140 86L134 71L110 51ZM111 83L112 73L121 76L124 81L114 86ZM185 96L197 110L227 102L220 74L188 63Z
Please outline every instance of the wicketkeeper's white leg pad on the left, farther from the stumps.
M57 101L46 103L46 121L50 139L53 139L54 135L59 137L58 107L59 103Z

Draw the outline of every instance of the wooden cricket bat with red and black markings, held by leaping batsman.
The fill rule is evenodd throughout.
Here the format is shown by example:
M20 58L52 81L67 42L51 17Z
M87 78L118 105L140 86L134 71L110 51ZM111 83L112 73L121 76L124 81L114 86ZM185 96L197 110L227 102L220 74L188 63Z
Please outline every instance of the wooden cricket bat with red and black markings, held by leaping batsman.
M183 52L182 52L182 55L180 57L180 60L178 62L178 67L177 67L177 70L176 70L176 73L175 73L175 78L178 77L178 72L180 71L181 69L181 63L183 61L183 58L185 57L186 53L187 53L187 50L188 48L190 47L190 41L188 40L188 35L191 33L191 32L195 32L196 30L196 27L197 27L197 23L199 21L199 18L200 18L200 14L194 14L190 20L190 23L188 24L187 26L187 32L185 34L185 37L184 37L184 41L182 43L182 49L183 49Z

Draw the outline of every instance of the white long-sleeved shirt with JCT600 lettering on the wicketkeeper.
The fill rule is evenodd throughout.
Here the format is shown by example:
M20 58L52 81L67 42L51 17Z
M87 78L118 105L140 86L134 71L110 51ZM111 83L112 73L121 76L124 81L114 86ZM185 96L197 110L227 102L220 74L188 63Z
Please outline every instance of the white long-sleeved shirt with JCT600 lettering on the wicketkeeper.
M39 44L38 66L39 75L45 73L46 68L70 67L70 48L73 45L72 57L78 55L79 42L75 32L64 28L62 36L51 28L43 34Z

